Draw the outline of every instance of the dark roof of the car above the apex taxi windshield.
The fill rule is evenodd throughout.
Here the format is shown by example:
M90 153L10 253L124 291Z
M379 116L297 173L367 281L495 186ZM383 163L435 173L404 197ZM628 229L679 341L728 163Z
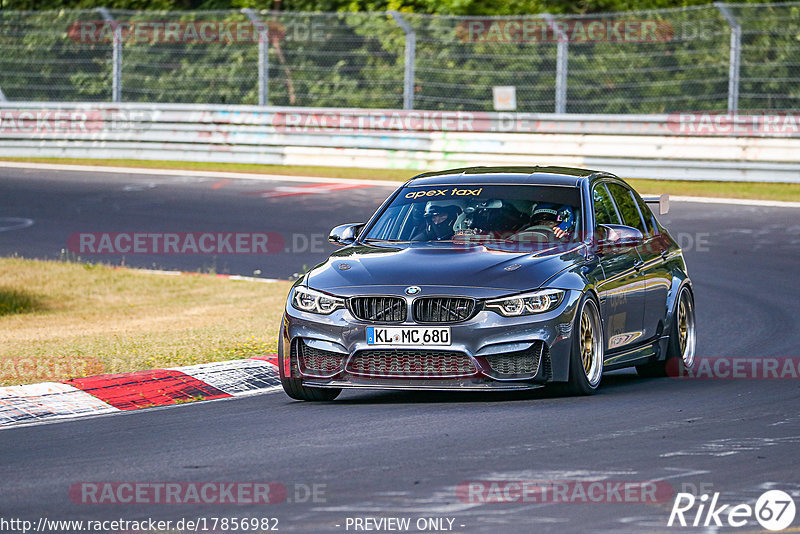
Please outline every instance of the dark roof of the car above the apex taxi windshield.
M610 176L608 173L574 167L464 167L426 172L413 177L408 181L408 185L463 184L479 181L485 184L577 186L581 180L598 174Z

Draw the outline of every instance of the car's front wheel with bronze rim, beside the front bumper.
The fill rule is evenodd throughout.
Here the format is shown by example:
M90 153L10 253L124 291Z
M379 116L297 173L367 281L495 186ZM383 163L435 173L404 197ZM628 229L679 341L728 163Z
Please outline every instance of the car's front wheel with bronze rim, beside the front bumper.
M603 379L603 323L595 300L584 295L572 329L569 380L556 384L562 395L591 395Z

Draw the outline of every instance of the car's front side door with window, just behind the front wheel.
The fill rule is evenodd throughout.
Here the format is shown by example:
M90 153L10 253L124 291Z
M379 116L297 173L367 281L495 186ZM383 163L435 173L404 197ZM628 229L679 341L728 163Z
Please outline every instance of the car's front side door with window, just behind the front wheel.
M605 182L592 188L595 235L602 237L600 224L624 224ZM644 315L644 282L637 267L642 260L636 247L616 247L598 254L603 281L598 284L600 311L604 318L606 363L614 363L625 347L641 338Z

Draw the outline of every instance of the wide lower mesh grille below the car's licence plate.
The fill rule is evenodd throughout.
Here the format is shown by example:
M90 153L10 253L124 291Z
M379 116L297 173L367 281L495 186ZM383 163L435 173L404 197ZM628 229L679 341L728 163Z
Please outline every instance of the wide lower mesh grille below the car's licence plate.
M365 350L347 363L348 373L370 377L454 378L475 374L472 359L447 350Z

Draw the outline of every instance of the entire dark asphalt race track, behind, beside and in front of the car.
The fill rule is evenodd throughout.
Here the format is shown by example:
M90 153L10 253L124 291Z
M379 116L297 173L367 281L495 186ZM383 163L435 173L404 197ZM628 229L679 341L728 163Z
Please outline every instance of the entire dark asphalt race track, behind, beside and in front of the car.
M316 191L296 194L301 186ZM331 250L313 236L363 220L389 192L2 169L0 255L58 258L75 232L269 231L291 245L267 256L130 255L124 262L288 278ZM12 228L12 219L33 224ZM698 356L796 363L800 210L673 202L662 219L684 246L694 281ZM304 238L319 246L301 246ZM274 517L281 531L309 533L354 532L354 518L389 517L411 518L412 526L418 518L451 519L453 532L469 533L705 532L714 529L667 527L672 497L485 503L460 498L456 488L470 481L657 481L673 492L719 492L720 504L753 505L767 489L800 503L798 452L800 379L791 378L645 380L620 371L583 398L355 392L309 404L270 394L4 430L0 516ZM78 504L69 493L81 482L253 481L283 484L287 499ZM316 499L307 491L313 485ZM794 531L798 525L800 517ZM721 530L761 527L751 518Z

